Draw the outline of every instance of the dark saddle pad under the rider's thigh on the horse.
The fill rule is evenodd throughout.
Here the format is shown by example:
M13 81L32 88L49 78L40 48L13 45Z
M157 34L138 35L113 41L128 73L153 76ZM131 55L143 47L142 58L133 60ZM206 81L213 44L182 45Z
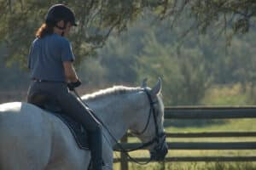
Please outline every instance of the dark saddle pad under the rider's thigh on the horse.
M61 121L67 125L67 127L70 129L71 133L73 134L75 141L79 145L80 149L90 150L89 143L88 143L88 134L84 129L84 127L79 122L75 122L72 118L63 114L54 113L54 115L59 117Z

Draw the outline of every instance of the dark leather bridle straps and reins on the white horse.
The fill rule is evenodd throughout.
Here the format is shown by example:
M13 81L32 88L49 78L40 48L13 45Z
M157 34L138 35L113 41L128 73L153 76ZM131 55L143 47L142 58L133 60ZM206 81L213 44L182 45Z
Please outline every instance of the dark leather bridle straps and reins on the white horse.
M76 91L75 89L73 90L73 92L74 92L74 94L80 99L80 101L81 101L84 105L86 105L87 107L89 107L89 105L87 105L87 104L83 101L83 99L81 99L81 97L79 96L79 94L77 93L77 91ZM149 104L150 104L150 109L149 109L149 113L148 113L148 121L147 121L147 123L146 123L146 126L143 128L143 131L140 132L140 133L135 133L135 134L136 134L136 135L141 135L141 134L143 134L143 133L148 129L148 125L149 125L149 122L150 122L150 117L151 117L151 115L153 114L153 116L154 116L155 137L154 137L154 139L151 139L151 140L148 141L147 143L143 143L143 144L141 144L140 146L137 146L136 148L133 148L133 149L131 149L131 150L125 150L125 148L122 146L122 144L120 144L120 143L118 142L118 139L115 139L115 138L114 138L113 134L109 131L108 127L102 122L102 120L99 119L99 118L96 116L96 114L94 114L94 113L91 111L91 113L93 114L93 116L96 117L97 121L99 121L99 122L102 123L102 126L108 131L108 133L109 133L109 135L111 136L111 138L114 140L114 142L116 143L116 145L119 147L119 149L116 149L116 150L114 150L114 151L119 151L119 152L125 153L125 155L128 156L128 157L131 159L131 161L134 161L134 162L136 162L137 164L140 164L140 165L148 164L150 161L152 161L152 159L149 158L148 161L146 161L146 162L139 162L139 161L135 160L134 158L132 158L132 157L129 155L129 152L134 151L134 150L141 150L141 149L143 149L143 148L145 148L145 147L148 147L148 146L151 145L151 144L154 144L155 142L158 144L158 143L160 142L160 138L166 135L165 133L159 133L159 126L158 126L158 124L157 124L156 111L155 111L155 109L154 109L154 104L156 104L157 102L156 102L156 101L154 102L154 101L152 100L152 98L151 98L151 96L150 96L150 94L149 94L149 92L148 92L148 90L147 90L146 88L143 88L143 92L145 92L145 93L147 94L148 101L149 101Z

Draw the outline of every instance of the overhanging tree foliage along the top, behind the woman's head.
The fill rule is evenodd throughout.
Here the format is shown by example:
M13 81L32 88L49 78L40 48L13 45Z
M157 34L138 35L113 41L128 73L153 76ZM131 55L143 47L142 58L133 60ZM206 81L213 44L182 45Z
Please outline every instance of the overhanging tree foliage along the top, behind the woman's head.
M77 64L85 56L95 54L112 31L124 31L147 10L156 14L156 20L171 20L171 26L189 16L189 29L183 34L191 28L206 32L212 26L218 28L214 32L232 27L235 33L245 33L253 22L256 6L252 0L0 0L0 39L9 48L5 59L26 65L33 32L44 22L44 15L54 3L73 8L79 20L71 37Z

